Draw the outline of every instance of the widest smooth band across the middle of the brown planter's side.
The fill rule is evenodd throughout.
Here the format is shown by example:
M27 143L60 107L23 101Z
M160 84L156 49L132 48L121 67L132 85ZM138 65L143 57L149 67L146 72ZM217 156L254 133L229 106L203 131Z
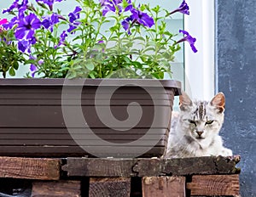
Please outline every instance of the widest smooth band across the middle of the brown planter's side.
M0 127L45 127L45 128L66 128L65 121L62 114L63 106L40 106L40 105L0 105ZM101 106L101 115L109 116L109 106ZM153 128L167 128L167 123L171 119L170 106L157 106L157 115L154 119L154 106L141 106L143 110L143 116L136 125L136 127L147 128L152 125ZM77 108L73 106L65 106L67 111L70 111L73 115L78 115ZM106 125L99 119L95 106L81 106L85 121L79 121L69 127L102 127L106 128ZM111 111L116 119L124 121L128 118L127 105L124 106L112 106ZM161 112L161 113L160 113ZM9 117L9 118L6 118ZM78 118L78 117L77 117ZM81 120L84 120L81 119ZM123 123L122 128L131 128L131 123ZM123 130L124 131L124 130Z

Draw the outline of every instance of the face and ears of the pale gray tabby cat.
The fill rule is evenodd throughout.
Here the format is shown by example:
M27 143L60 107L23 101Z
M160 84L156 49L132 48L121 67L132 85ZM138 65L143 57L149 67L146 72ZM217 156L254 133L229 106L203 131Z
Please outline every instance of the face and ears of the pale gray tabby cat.
M180 98L180 121L186 136L203 142L218 134L224 122L224 94L212 101L191 101L185 93Z

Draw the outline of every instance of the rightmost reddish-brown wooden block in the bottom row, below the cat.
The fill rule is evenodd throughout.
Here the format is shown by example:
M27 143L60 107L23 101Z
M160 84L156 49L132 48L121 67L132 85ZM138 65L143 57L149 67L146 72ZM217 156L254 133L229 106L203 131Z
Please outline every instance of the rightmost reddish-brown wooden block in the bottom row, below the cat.
M191 195L239 195L239 175L195 175L187 183Z

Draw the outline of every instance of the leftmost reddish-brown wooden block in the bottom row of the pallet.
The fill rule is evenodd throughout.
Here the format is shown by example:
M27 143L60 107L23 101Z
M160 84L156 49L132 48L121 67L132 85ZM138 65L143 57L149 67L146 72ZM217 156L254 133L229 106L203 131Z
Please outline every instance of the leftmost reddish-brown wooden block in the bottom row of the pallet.
M34 182L32 183L32 197L79 197L80 181Z

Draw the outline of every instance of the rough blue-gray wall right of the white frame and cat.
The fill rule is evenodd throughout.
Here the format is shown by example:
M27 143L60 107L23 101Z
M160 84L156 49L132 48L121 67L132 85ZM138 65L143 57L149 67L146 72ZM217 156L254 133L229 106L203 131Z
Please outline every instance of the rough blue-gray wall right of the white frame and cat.
M241 196L256 196L256 1L216 1L218 91L225 145L241 155Z

